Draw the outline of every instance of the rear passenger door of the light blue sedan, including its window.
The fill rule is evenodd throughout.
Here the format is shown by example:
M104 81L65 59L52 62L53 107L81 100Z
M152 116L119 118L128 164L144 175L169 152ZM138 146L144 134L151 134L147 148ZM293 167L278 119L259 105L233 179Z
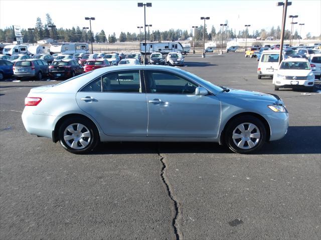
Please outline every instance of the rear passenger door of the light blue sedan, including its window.
M146 136L147 103L139 70L106 73L77 92L79 107L110 136Z

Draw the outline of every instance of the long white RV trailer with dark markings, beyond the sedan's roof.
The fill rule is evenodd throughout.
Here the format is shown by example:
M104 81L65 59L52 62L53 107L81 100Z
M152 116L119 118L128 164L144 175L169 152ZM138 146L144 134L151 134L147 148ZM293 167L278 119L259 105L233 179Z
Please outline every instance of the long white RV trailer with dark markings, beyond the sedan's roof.
M167 54L169 52L184 53L182 44L178 41L163 41L163 42L146 42L146 53L161 52ZM142 54L145 53L145 42L140 42L140 51Z

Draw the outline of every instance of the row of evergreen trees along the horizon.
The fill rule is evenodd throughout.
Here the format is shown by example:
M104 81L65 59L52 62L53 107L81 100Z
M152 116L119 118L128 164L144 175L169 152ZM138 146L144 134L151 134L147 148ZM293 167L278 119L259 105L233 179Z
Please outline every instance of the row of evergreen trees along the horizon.
M230 28L228 21L226 20L225 23L227 24L224 26L224 35L223 38L245 38L246 37L246 29L240 30L236 32L235 29ZM106 42L114 43L117 40L124 42L124 41L141 41L144 40L144 31L141 31L141 34L136 32L121 32L117 37L115 32L112 34L106 34L104 30L100 32L96 32L95 34L91 34L90 29L83 29L79 26L72 27L71 29L67 28L57 28L57 27L49 27L51 25L55 25L51 16L47 13L46 14L46 23L43 24L40 17L37 17L35 27L33 30L22 29L22 35L24 37L24 42L36 42L40 39L50 37L53 38L55 41L64 41L64 42ZM188 30L182 29L170 29L166 31L159 31L159 30L150 30L148 35L148 30L146 29L146 39L152 41L172 41L172 40L187 40L189 37L194 36L194 30L196 35L196 40L203 40L203 29L204 26L200 25L197 28L191 28L190 32ZM281 35L280 26L276 28L271 27L270 30L261 29L261 30L253 30L252 32L248 29L247 37L248 38L257 38L260 37L261 39L279 39ZM90 39L92 38L92 39ZM290 38L290 31L285 30L284 34L285 39ZM297 30L293 33L293 39L318 39L320 36L311 36L308 32L305 37L301 37ZM208 27L205 25L205 39L206 40L217 40L220 41L222 39L222 28L219 28L217 31L216 28L212 25L211 31L208 32ZM5 29L0 29L0 42L12 42L15 40L15 34L12 27L7 27Z

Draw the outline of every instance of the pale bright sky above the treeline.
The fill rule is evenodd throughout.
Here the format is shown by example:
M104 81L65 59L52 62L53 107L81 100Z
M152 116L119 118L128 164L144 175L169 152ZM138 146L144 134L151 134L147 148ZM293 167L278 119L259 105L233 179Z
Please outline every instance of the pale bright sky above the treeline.
M305 23L302 36L307 32L320 35L321 0L291 0L287 15L298 15L294 21ZM85 16L95 17L93 32L101 29L105 33L120 31L139 32L137 26L144 24L143 7L137 7L140 0L0 0L0 28L20 25L22 28L34 27L37 17L46 22L49 13L57 28L89 26ZM146 1L143 1L144 3ZM220 23L228 20L236 32L251 24L249 32L271 26L281 26L282 7L276 0L147 0L152 7L146 7L146 24L150 30L187 29L192 25L204 24L201 16L209 16L206 21L208 31L212 25L218 30ZM286 19L286 29L290 29L291 19ZM295 29L300 31L298 24ZM295 31L294 29L294 31Z

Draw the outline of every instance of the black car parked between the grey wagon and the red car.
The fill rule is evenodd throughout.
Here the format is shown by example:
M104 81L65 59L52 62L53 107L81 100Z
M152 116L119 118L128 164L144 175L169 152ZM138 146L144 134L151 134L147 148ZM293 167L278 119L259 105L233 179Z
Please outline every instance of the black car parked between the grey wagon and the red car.
M49 75L55 78L68 78L81 74L84 69L76 60L66 59L53 61L49 66Z

